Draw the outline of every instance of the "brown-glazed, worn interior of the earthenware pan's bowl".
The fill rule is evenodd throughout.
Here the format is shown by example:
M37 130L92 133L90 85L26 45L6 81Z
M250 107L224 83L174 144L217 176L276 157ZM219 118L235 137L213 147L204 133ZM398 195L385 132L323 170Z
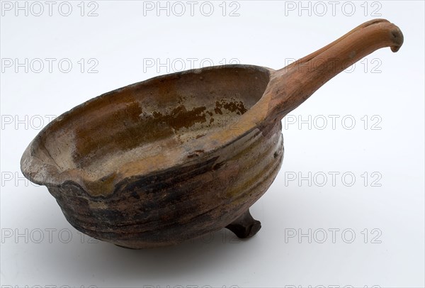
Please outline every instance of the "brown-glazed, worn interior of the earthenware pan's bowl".
M60 172L108 175L125 162L166 155L234 123L261 99L268 80L265 68L232 65L133 84L52 122L42 132L36 156Z

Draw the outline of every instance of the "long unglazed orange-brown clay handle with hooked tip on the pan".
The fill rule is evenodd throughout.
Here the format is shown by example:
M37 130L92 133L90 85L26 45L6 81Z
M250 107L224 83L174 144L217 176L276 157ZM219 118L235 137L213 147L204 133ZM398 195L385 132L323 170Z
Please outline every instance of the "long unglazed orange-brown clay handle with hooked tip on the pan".
M397 26L385 19L375 19L274 72L268 85L268 118L280 120L329 79L371 52L384 47L397 52L402 44L403 34Z

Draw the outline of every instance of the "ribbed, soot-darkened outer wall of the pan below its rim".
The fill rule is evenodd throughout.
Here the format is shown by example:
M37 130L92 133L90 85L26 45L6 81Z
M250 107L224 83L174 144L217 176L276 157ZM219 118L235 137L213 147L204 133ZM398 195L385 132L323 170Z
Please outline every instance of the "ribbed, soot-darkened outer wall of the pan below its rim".
M174 245L219 231L272 184L283 160L280 121L247 133L192 165L172 167L90 197L75 183L48 187L67 221L87 235L126 248Z

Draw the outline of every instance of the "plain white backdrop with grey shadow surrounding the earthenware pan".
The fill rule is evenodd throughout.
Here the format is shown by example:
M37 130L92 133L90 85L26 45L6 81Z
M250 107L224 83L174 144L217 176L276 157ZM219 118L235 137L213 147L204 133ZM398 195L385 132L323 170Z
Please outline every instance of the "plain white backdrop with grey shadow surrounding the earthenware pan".
M186 1L182 16L173 2L169 16L157 1L86 2L84 16L80 1L69 2L69 16L60 1L52 16L43 1L40 16L40 5L25 3L28 16L15 1L1 4L1 285L424 287L423 1L306 1L306 10L298 1L237 1L226 11L214 1L211 16L202 1L193 16ZM97 16L87 16L92 9ZM283 167L251 208L262 228L250 240L223 230L154 250L93 241L21 175L23 150L49 118L94 96L182 63L279 69L373 18L396 23L404 46L369 55L283 121ZM55 58L51 72L46 58ZM62 59L72 63L67 73Z

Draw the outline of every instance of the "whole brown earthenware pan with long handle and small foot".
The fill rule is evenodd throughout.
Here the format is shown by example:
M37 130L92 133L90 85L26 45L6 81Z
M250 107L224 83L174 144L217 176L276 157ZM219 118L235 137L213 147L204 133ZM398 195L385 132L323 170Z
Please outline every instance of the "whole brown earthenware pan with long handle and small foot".
M225 65L167 74L86 101L30 143L21 170L47 186L67 221L126 248L261 228L249 207L283 159L280 120L365 55L403 43L363 23L281 70Z

